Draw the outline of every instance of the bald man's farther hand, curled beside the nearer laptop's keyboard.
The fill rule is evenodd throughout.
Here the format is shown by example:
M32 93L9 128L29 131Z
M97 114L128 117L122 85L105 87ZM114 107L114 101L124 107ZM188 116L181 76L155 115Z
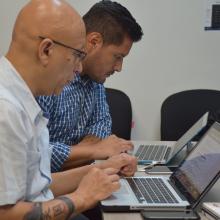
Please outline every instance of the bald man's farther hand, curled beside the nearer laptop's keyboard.
M133 176L137 171L137 159L126 153L115 155L108 160L97 164L97 167L107 168L112 167L118 169L124 176Z

